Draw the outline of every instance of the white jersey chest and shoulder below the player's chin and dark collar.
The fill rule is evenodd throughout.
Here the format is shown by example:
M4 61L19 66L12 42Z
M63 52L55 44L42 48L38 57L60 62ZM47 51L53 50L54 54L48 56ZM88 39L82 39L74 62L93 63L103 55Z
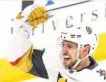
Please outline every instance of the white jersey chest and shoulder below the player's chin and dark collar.
M64 71L63 71L64 70ZM63 69L61 76L67 78L67 82L106 82L106 61L85 68L79 72Z

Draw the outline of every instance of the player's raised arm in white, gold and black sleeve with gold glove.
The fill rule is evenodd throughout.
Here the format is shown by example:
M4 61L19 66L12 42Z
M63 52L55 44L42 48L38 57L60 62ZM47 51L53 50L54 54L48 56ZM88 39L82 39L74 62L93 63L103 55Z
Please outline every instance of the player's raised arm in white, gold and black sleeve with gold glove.
M38 24L44 23L46 20L47 12L44 7L30 5L25 8L12 20L14 33L8 41L5 53L5 58L12 66L43 78L48 78L42 60L43 51L33 49L30 34ZM2 62L2 60L0 61Z

